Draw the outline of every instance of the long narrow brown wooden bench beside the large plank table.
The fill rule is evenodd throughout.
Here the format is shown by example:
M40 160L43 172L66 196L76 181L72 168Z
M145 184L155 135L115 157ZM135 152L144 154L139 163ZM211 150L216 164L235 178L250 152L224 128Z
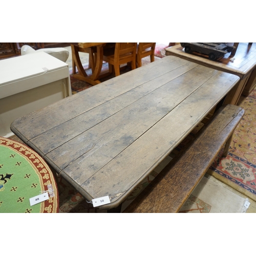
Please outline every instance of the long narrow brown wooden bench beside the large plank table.
M234 129L244 110L222 106L123 212L178 212L225 144L226 157Z

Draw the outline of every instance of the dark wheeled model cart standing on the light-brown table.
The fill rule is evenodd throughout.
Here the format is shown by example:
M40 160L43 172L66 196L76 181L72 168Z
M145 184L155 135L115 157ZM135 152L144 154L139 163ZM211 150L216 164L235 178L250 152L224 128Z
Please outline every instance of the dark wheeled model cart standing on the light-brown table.
M208 55L210 60L223 58L227 52L231 52L234 46L227 46L225 42L181 42L186 53L199 52Z

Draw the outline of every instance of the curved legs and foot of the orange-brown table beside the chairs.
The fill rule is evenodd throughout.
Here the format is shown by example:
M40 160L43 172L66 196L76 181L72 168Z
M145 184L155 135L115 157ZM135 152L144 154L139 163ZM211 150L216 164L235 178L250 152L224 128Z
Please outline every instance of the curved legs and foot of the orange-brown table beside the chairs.
M78 47L71 45L71 50L72 50L72 63L73 67L76 66L78 73L75 72L75 69L73 68L73 76L74 78L77 78L79 80L86 81L92 86L95 86L96 84L100 83L98 79L100 75L100 71L102 68L102 61L103 61L103 47L102 45L97 46L97 54L96 54L96 65L93 70L93 73L91 76L88 76L86 71L84 71L82 67L82 63L78 54Z

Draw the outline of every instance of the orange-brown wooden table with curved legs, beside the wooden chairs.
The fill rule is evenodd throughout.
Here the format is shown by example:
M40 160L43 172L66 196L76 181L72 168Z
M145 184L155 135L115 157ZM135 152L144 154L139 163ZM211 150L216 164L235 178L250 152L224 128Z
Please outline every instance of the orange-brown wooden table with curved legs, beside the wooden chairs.
M92 86L100 83L98 77L100 75L100 71L102 68L102 61L103 61L103 46L106 44L104 42L78 42L78 43L70 43L71 50L72 50L72 61L73 61L73 76L77 79L89 82ZM86 71L82 66L79 52L87 52L86 49L90 47L96 47L97 54L96 54L96 63L92 75L88 76ZM74 65L75 63L75 65ZM78 73L75 71L75 66L77 67Z

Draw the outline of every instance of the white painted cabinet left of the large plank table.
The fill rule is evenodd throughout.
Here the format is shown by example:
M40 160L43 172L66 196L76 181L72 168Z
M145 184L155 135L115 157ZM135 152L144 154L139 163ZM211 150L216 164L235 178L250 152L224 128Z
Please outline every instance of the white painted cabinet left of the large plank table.
M38 52L0 60L0 136L18 117L71 95L68 64Z

